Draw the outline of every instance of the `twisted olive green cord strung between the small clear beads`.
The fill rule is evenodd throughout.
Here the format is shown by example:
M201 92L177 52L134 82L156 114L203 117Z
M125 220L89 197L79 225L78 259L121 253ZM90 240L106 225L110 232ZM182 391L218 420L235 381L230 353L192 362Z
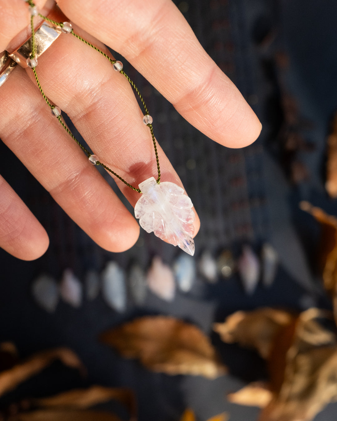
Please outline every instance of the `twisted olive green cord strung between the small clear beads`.
M27 0L27 3L31 6L34 7L34 3L32 2L32 0ZM63 23L62 22L56 22L52 19L49 19L43 15L41 15L40 13L38 13L38 15L40 16L40 18L44 19L45 21L48 21L50 23L52 23L55 26L58 27L63 27ZM31 58L35 57L36 54L36 45L35 45L35 32L34 32L34 23L33 23L33 18L34 16L31 16L31 20L30 20L30 24L31 24L31 28L32 28L32 53L31 53ZM111 64L115 64L117 60L112 60L107 54L105 54L102 50L100 50L99 48L95 47L93 44L89 43L88 41L84 40L82 37L80 37L79 35L75 34L75 32L72 30L70 32L70 34L72 34L75 38L77 38L78 40L82 41L83 43L85 43L86 45L88 45L89 47L93 48L95 51L99 52L100 54L102 54L102 56L104 56L107 60L110 61ZM48 107L51 108L51 110L53 110L55 108L55 105L52 105L49 101L48 98L45 96L45 93L43 92L43 89L40 85L40 81L39 78L37 77L37 72L36 72L36 68L33 67L32 68L33 72L34 72L34 76L35 76L35 80L37 83L38 88L40 89L40 92L43 96L43 99L45 100L45 102L47 103ZM145 104L145 101L141 95L141 93L139 92L138 88L136 87L136 85L134 84L134 82L130 79L130 77L128 77L128 75L126 75L126 73L122 70L120 70L120 73L126 77L126 79L128 80L128 82L130 83L130 85L132 86L132 88L134 88L134 90L136 91L137 95L139 96L139 99L141 100L144 110L145 110L145 115L149 115L149 112L147 110L147 106ZM61 115L57 116L57 119L59 120L59 123L62 125L62 127L64 128L64 130L72 137L72 139L75 140L75 142L83 149L84 152L86 152L86 154L88 155L88 158L92 155L76 138L75 136L71 133L71 131L67 128L67 126L62 122L61 120ZM158 158L158 152L157 152L157 145L156 145L156 141L155 141L155 135L153 133L153 128L152 128L152 124L147 124L147 127L150 128L150 133L152 136L152 141L153 141L153 147L155 149L155 157L156 157L156 162L157 162L157 170L158 170L158 179L157 179L157 183L160 183L160 166L159 166L159 158ZM107 165L104 165L103 163L101 163L100 161L96 161L96 165L101 165L105 170L109 171L110 173L112 173L115 177L117 177L118 179L120 179L120 181L123 181L124 184L126 184L128 187L130 187L132 190L134 190L135 192L139 192L142 193L141 190L134 186L132 186L131 184L129 184L127 181L125 181L121 176L119 176L118 174L116 174L114 171L112 171L111 168L107 167Z

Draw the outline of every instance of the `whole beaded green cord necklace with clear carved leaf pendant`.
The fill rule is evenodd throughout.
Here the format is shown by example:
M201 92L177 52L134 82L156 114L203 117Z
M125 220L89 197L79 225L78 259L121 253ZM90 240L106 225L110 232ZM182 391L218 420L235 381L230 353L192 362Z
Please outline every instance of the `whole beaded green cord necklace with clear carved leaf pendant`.
M77 35L73 29L70 22L57 22L53 19L49 19L46 16L43 16L41 13L37 11L35 4L32 0L27 0L26 3L29 5L29 12L31 15L30 19L30 26L32 30L32 37L31 37L31 45L30 45L30 54L27 59L27 66L32 68L34 72L35 80L37 83L38 88L43 96L43 99L47 103L48 107L51 108L51 112L56 118L59 120L59 123L62 125L65 131L72 137L73 140L83 149L83 151L88 156L88 160L93 165L101 165L105 170L112 173L115 177L123 181L128 187L130 187L135 192L141 193L142 196L137 201L134 211L136 218L139 218L139 224L142 228L147 232L154 232L154 234L161 238L162 240L166 240L173 245L178 245L182 250L186 251L188 254L194 254L194 241L193 241L193 221L194 221L194 212L192 210L193 204L190 198L184 194L184 189L182 187L177 186L177 184L171 183L169 181L164 181L160 183L160 165L159 165L159 158L157 152L157 146L155 141L155 136L153 133L152 128L152 117L149 115L147 106L144 102L144 99L139 92L138 88L134 84L134 82L126 75L123 71L123 64L120 61L113 60L99 48L95 47L88 41L84 40L82 37ZM37 52L36 52L36 43L35 43L35 30L34 30L34 17L40 16L44 21L49 22L49 24L53 25L55 28L61 29L61 31L65 34L70 34L77 38L78 40L82 41L89 47L93 48L95 51L100 53L105 59L110 61L112 64L113 69L116 72L122 74L134 91L136 91L139 99L142 102L144 107L144 117L143 123L147 125L150 129L150 133L152 136L153 147L155 150L155 158L157 162L157 170L158 170L158 178L155 179L154 177L150 177L139 184L139 187L136 188L129 184L126 180L124 180L121 176L119 176L115 171L109 168L107 165L104 165L100 160L99 157L89 152L71 133L71 131L66 127L66 125L62 122L62 115L61 109L52 105L48 98L45 96L43 92L43 88L41 87L39 78L37 76L36 67L37 67Z

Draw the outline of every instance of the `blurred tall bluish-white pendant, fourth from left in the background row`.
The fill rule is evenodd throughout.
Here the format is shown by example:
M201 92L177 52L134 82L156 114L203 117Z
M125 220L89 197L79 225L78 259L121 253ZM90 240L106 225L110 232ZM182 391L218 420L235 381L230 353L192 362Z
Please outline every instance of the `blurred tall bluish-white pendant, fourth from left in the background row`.
M126 309L125 274L117 262L110 261L102 272L102 295L106 303L117 312Z

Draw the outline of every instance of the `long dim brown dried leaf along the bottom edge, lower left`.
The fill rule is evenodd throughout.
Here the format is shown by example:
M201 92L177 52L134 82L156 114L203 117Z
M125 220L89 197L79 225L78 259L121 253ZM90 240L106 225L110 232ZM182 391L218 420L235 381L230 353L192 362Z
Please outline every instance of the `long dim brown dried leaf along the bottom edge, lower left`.
M91 386L89 389L75 389L55 396L35 399L32 402L39 407L54 408L90 408L109 400L118 400L128 409L131 419L136 419L137 407L134 392L122 387L111 388Z

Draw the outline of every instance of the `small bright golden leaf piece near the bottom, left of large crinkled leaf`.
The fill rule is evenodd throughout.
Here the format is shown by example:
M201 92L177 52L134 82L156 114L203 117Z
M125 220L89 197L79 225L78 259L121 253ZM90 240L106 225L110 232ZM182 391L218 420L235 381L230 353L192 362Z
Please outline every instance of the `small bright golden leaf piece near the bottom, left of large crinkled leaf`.
M273 394L265 384L260 382L251 383L238 390L238 392L227 395L227 400L238 405L258 406L265 408L272 400Z

